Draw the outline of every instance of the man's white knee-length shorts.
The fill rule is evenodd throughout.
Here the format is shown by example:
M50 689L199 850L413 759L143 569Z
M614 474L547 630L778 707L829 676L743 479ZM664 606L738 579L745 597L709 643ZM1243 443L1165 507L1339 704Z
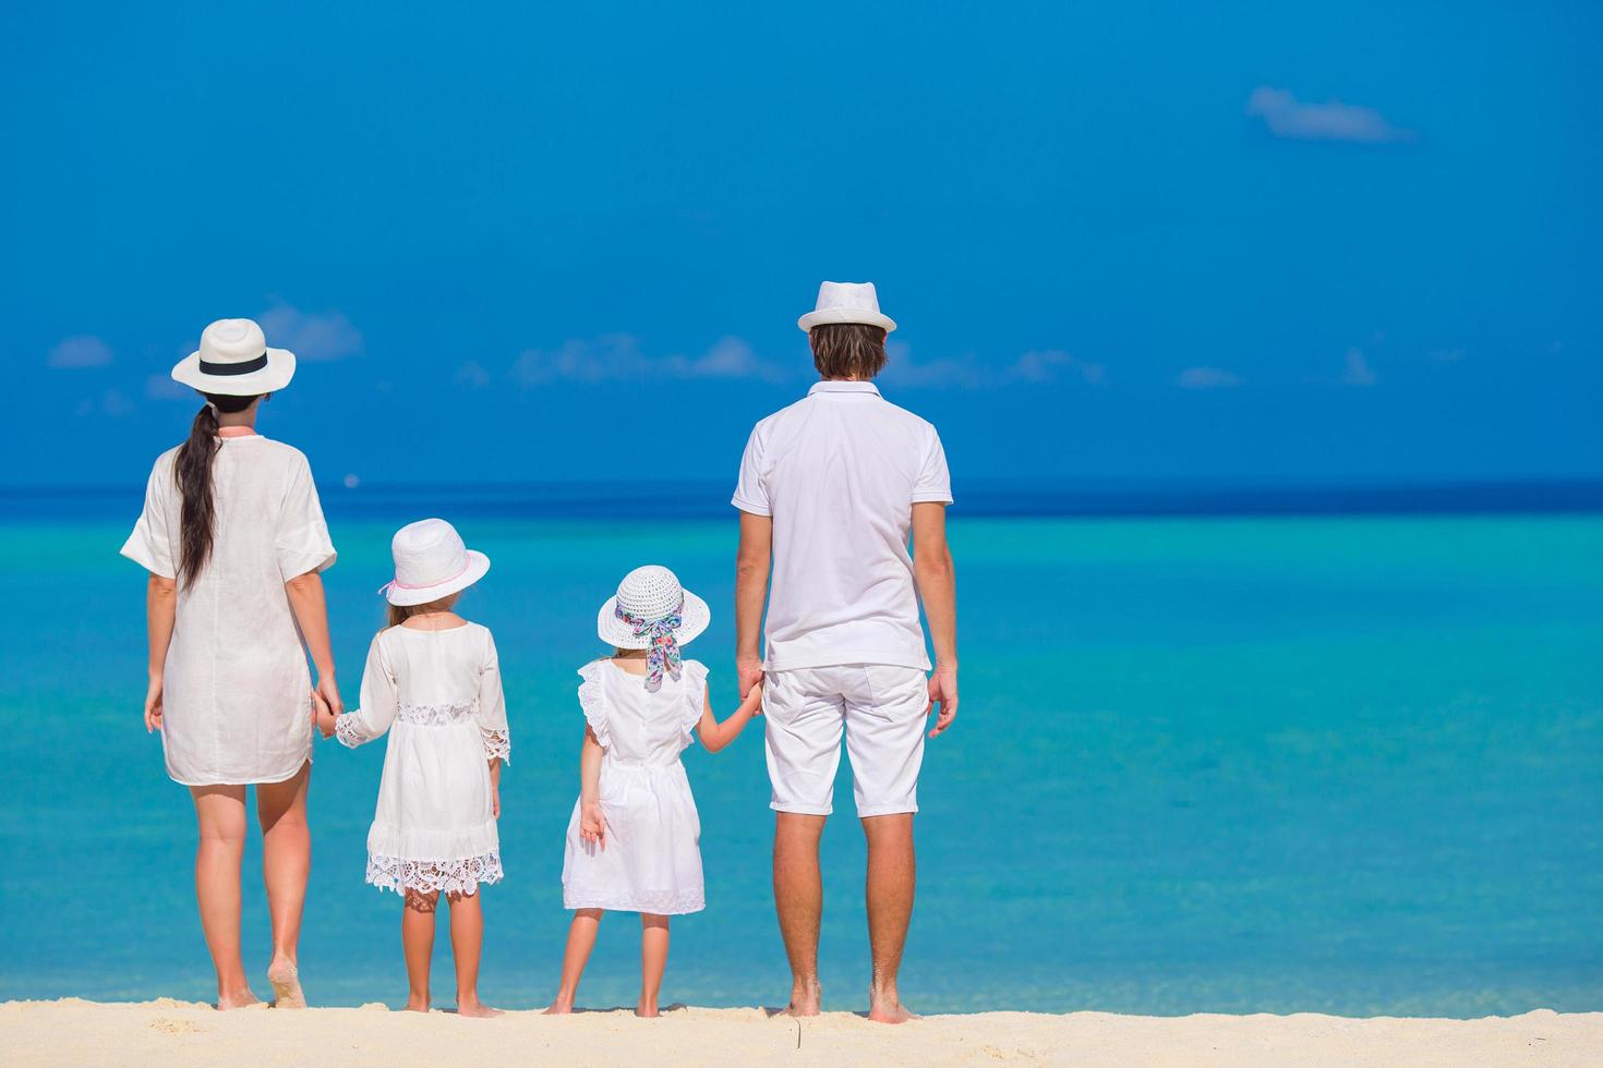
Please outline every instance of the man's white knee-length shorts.
M829 815L840 732L859 817L919 810L930 685L919 668L840 664L769 671L763 685L768 781L776 812Z

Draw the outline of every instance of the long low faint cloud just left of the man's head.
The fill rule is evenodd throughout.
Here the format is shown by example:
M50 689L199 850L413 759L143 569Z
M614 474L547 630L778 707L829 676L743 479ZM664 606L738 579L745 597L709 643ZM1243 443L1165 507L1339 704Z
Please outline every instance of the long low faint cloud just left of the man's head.
M614 333L566 341L558 349L529 349L511 367L521 386L551 381L630 381L651 378L760 378L781 381L784 368L758 357L741 338L721 338L701 355L648 355L633 335Z

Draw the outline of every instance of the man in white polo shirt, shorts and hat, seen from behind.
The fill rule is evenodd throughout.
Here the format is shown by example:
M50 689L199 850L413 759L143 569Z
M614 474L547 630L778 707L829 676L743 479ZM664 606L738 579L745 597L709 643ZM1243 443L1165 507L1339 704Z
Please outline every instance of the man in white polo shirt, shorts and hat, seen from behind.
M814 1015L822 998L818 842L845 729L869 844L869 1018L901 1023L914 1018L896 993L896 970L912 916L925 717L941 706L935 738L957 716L951 480L935 428L885 402L870 381L896 328L880 314L874 283L826 282L798 325L822 381L758 423L745 445L733 501L741 509L736 666L742 697L765 681L789 1010ZM766 656L758 652L765 594ZM928 679L920 596L935 642Z

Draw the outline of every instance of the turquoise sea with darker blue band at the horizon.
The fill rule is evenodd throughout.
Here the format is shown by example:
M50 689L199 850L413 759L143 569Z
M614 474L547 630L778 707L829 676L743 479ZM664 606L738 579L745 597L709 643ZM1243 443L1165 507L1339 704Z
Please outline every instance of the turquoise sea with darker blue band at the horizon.
M513 729L483 993L542 1004L595 607L625 570L673 567L715 607L691 648L729 706L734 519L325 500L351 701L399 520L439 511L494 560L462 608L497 634ZM120 503L0 520L0 999L213 993L192 807L139 724L144 580L117 557L138 492ZM952 544L963 703L925 761L909 1004L1603 1009L1603 517L957 511ZM317 748L301 972L325 1004L404 998L399 901L362 884L382 757ZM675 922L665 999L779 1004L761 737L686 762L709 908ZM824 839L837 1009L867 985L848 775ZM245 945L260 974L248 852ZM632 1004L636 954L635 919L604 922L580 1001Z

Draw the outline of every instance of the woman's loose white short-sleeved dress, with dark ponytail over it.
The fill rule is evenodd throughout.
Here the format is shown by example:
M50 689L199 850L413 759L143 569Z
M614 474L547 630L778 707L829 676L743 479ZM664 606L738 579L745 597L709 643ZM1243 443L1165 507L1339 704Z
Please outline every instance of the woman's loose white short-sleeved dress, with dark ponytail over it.
M180 583L162 673L162 751L186 786L281 783L311 759L311 671L284 583L333 564L317 487L300 450L223 437L212 466L212 559ZM176 578L178 450L162 453L122 554Z

